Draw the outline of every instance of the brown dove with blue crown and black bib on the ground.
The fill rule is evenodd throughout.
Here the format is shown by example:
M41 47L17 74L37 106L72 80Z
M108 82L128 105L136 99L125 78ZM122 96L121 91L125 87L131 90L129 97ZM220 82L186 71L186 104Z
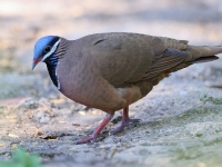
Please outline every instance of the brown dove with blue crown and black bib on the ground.
M122 120L112 134L129 128L129 106L171 72L216 60L221 52L221 46L193 46L188 40L132 32L94 33L75 40L46 36L34 45L31 68L46 62L61 94L107 112L91 136L77 141L87 144L97 141L118 110L122 110Z

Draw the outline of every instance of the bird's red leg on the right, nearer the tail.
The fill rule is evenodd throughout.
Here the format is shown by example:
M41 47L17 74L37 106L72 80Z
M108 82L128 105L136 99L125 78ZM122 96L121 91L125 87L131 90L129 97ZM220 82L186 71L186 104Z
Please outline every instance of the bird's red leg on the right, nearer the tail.
M123 112L122 112L122 122L121 125L114 129L112 131L113 135L118 134L118 132L121 132L122 130L124 130L124 127L129 128L129 121L130 121L130 118L129 118L129 107L127 108L123 108Z

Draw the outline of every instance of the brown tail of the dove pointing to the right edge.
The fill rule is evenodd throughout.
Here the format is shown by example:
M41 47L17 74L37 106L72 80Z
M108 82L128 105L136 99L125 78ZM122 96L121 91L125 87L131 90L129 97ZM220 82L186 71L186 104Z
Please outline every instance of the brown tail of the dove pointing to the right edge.
M185 52L188 53L186 62L199 63L213 61L219 59L215 55L222 53L222 46L188 46Z

